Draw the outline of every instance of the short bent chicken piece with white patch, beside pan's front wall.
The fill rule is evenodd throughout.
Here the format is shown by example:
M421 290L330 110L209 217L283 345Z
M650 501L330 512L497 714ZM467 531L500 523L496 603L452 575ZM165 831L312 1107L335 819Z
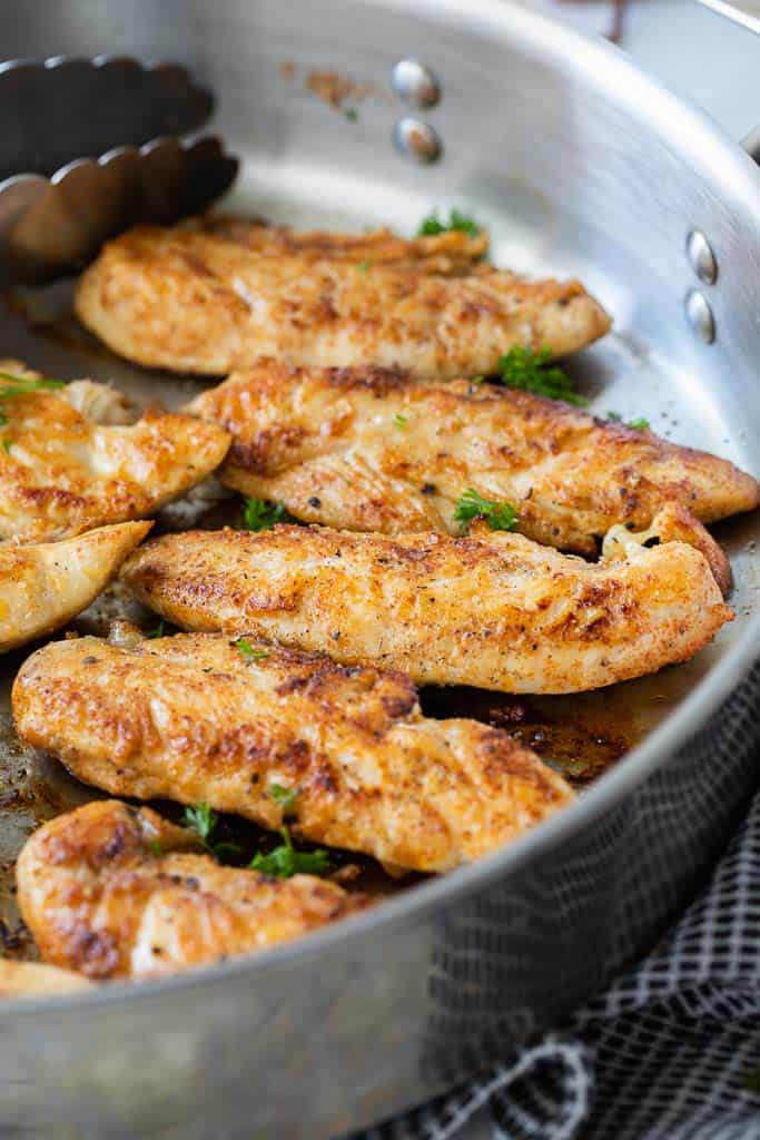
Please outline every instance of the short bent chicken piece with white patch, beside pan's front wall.
M156 978L250 954L363 905L334 882L220 866L149 808L96 800L26 841L18 904L46 962L93 980Z

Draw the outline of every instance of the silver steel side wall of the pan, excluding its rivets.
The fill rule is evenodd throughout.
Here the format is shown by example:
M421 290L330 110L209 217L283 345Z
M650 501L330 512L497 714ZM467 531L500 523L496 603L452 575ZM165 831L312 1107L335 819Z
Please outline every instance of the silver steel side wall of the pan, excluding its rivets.
M358 214L371 205L373 179L403 182L431 204L460 196L507 210L516 261L582 271L630 353L663 361L663 374L668 364L673 397L698 405L732 458L758 473L760 177L706 129L692 135L689 116L661 105L656 88L629 89L614 52L588 48L587 58L583 41L506 0L459 8L36 0L18 10L0 0L0 27L9 57L112 51L188 63L216 90L215 125L230 146L255 152L254 174L322 170L327 187L343 177L357 186L360 172ZM386 87L406 56L443 80L443 103L427 115L446 146L436 168L394 156L400 108L369 98L350 125L303 90L309 67ZM291 85L279 78L287 60L300 67ZM719 256L711 347L683 319L695 285L684 256L690 226ZM757 783L759 686L755 670L656 766L643 767L657 747L645 743L623 762L641 769L638 785L579 814L530 861L505 852L500 874L466 896L452 877L452 898L435 912L408 909L345 938L318 937L314 953L305 945L123 996L0 1010L0 1132L320 1140L508 1054L652 946L698 887ZM422 904L424 888L411 897Z

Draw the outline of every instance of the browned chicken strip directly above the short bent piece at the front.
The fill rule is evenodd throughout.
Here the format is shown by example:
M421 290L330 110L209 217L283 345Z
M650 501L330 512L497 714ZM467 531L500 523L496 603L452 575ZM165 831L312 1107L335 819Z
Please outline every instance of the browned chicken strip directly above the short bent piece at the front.
M507 733L423 717L400 674L256 641L55 642L24 663L13 703L26 743L113 795L273 829L280 784L297 789L305 839L409 870L477 858L573 798Z

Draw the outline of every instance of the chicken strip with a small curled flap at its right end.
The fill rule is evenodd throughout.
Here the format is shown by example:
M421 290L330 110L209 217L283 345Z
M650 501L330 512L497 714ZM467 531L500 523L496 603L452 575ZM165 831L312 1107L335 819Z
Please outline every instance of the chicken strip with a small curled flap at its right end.
M485 528L190 531L142 546L122 575L183 629L375 661L419 684L571 693L683 661L733 617L698 551L619 530L624 556L598 564Z

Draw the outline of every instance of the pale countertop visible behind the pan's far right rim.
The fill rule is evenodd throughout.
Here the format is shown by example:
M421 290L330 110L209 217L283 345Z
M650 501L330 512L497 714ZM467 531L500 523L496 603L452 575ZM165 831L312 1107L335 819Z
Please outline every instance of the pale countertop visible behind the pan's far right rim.
M612 24L612 6L602 0L547 0L536 7L589 34L604 34ZM644 71L698 104L732 138L742 139L760 123L760 38L696 0L631 0L620 47ZM458 1140L492 1140L487 1114Z

